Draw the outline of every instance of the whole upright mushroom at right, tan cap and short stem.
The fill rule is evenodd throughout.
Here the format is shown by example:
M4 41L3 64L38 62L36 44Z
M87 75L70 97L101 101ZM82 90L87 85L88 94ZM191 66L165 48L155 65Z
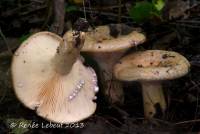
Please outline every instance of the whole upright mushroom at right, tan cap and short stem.
M114 75L123 81L139 81L142 85L144 115L152 118L156 107L166 110L162 81L179 78L188 73L190 64L179 53L147 50L123 57L114 66Z

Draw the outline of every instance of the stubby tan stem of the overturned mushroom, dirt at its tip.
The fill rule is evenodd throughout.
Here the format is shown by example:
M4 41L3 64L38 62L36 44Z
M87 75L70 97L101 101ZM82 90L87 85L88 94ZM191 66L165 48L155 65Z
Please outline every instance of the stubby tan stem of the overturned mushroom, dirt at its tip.
M57 73L66 75L70 72L73 64L80 56L80 49L84 44L84 40L84 32L78 32L73 33L60 42L57 53L53 58L53 64Z

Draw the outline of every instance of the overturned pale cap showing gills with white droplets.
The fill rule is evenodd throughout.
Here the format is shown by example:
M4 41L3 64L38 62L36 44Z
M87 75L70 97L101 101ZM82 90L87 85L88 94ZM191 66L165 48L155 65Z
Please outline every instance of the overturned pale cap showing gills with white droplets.
M55 72L52 59L61 38L50 32L29 37L15 52L12 78L15 93L39 116L58 123L83 120L96 109L94 70L77 60L67 75Z

